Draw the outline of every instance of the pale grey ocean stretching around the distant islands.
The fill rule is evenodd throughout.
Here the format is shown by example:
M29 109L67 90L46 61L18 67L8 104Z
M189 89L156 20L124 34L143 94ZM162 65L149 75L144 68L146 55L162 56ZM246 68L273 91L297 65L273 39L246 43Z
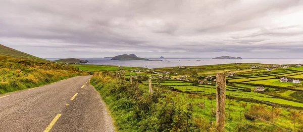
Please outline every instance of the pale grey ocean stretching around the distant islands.
M58 60L62 58L45 58L47 60ZM93 65L115 65L131 67L163 68L175 66L200 66L228 63L263 63L263 64L301 64L303 59L294 58L243 58L242 60L213 60L212 58L165 58L168 61L118 61L105 58L79 58L88 60L87 64ZM148 58L158 60L159 58ZM200 60L200 61L197 61Z

